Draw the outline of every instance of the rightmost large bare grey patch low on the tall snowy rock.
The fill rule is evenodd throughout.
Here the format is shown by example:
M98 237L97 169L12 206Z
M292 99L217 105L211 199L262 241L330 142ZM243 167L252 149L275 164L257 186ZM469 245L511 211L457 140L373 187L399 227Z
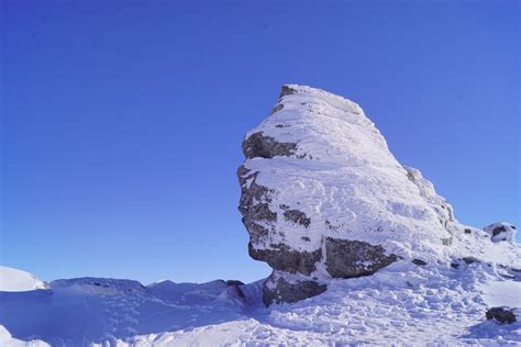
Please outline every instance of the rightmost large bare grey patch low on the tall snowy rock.
M375 273L398 260L381 246L365 242L325 238L325 269L333 278L353 278Z

